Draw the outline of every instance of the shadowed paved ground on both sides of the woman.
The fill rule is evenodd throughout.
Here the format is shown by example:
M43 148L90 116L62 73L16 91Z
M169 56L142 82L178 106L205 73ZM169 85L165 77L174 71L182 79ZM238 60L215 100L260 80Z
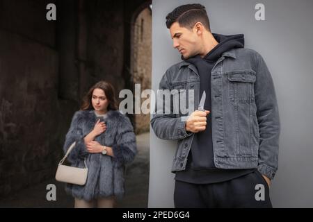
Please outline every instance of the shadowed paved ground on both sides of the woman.
M125 198L118 203L118 207L147 207L149 188L149 133L137 136L138 155L127 168L125 176ZM56 185L56 201L46 199L46 187ZM51 179L24 189L7 198L0 199L0 207L73 207L74 200L67 196L64 184Z

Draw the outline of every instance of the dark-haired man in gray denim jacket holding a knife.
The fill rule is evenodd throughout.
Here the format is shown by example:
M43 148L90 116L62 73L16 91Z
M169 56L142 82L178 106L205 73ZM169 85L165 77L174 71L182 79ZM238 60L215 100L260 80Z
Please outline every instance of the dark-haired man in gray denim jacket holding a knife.
M280 120L262 56L243 48L243 35L211 33L200 4L175 8L166 26L182 62L166 71L159 88L178 89L187 100L193 90L195 110L184 121L188 114L173 113L173 103L169 114L156 105L151 120L157 137L178 140L175 207L272 207Z

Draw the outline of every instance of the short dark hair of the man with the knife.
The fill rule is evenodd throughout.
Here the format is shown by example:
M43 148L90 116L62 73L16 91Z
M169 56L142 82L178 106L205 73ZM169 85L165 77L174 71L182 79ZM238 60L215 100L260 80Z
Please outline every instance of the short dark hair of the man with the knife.
M183 5L172 10L166 16L166 27L170 28L174 22L185 28L193 28L197 22L201 22L207 31L211 31L207 11L200 4Z

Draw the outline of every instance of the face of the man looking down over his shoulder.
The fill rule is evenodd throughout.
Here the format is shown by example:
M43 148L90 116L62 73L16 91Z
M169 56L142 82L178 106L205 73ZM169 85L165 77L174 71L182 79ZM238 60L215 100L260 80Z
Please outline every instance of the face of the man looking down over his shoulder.
M173 47L177 49L185 59L198 54L199 39L195 28L184 28L179 26L178 22L175 22L170 26L170 36L172 37Z

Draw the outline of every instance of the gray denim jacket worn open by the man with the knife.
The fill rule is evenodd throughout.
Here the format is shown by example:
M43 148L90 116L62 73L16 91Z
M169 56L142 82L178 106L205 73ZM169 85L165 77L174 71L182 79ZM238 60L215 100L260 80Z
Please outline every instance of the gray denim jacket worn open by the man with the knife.
M161 79L159 89L186 93L200 100L199 76L195 66L179 62L170 67ZM188 98L188 90L194 96ZM182 96L182 95L181 95ZM188 103L187 103L188 104ZM170 103L172 110L172 103ZM177 140L172 172L183 171L193 142L193 133L186 132L182 116L158 110L151 119L157 137ZM211 121L214 163L220 169L251 169L273 178L278 169L280 117L271 74L256 51L232 49L223 53L211 71Z

